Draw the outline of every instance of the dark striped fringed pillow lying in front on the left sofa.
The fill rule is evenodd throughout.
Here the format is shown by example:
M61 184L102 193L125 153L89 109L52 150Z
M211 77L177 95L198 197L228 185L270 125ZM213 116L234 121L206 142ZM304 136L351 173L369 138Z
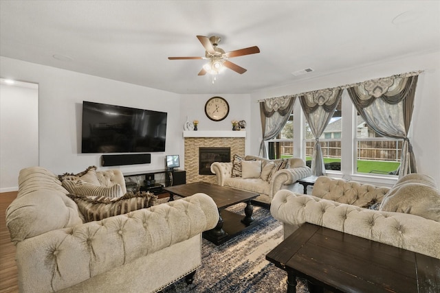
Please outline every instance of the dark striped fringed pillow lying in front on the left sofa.
M128 192L120 198L107 198L107 196L89 198L75 194L67 194L67 196L78 204L78 209L83 213L87 222L151 207L156 204L157 200L157 196L148 191L138 191L136 194Z

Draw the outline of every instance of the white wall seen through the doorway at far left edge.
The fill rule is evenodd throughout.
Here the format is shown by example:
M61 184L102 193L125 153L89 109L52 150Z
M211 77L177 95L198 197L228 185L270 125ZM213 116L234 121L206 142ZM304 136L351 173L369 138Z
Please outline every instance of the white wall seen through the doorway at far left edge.
M0 192L17 190L21 169L39 165L37 84L0 84Z

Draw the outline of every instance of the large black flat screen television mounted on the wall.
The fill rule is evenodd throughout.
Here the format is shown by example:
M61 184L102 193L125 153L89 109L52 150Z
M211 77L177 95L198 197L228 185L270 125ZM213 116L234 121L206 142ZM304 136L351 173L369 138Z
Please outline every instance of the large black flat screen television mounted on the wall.
M165 112L83 101L81 152L164 152Z

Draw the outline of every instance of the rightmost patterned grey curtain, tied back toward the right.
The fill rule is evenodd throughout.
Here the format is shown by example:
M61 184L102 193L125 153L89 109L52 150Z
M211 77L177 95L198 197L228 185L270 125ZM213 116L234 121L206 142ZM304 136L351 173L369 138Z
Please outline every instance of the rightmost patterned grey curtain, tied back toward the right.
M366 124L375 132L391 139L404 139L401 149L399 178L417 173L408 129L414 108L419 72L369 80L347 89L353 104Z

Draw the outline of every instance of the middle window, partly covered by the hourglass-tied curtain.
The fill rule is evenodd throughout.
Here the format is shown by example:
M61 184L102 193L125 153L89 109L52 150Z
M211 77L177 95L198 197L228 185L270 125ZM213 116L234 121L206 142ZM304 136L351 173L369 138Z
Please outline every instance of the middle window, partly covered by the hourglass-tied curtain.
M322 132L319 138L322 157L324 158L325 169L340 171L341 169L341 139L342 139L342 99L336 107L333 117ZM306 141L306 164L311 167L311 156L313 154L315 139L309 124L305 122L305 141Z

